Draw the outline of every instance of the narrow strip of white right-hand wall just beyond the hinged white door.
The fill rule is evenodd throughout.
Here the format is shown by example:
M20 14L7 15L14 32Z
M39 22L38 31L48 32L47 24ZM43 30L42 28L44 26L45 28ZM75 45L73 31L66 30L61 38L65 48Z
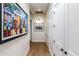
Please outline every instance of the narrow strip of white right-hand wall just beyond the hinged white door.
M51 55L53 55L53 40L54 40L54 20L53 20L53 4L50 4L49 9L46 14L47 19L47 32L46 32L46 38L47 38L47 45L49 47L49 51Z

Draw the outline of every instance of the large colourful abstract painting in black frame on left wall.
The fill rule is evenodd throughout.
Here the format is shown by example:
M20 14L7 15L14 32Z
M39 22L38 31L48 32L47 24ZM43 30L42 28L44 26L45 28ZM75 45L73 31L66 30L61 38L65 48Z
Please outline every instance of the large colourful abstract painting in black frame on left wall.
M28 15L17 3L0 3L0 42L28 33Z

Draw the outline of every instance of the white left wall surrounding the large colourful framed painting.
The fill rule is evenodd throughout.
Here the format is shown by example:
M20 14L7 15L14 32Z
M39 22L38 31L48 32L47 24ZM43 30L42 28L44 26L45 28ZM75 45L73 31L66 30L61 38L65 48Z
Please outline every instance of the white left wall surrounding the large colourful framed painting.
M28 17L30 17L29 5L28 4L19 4L19 5L28 14ZM29 24L29 21L28 21L28 24ZM28 31L29 30L30 30L30 27L28 28ZM24 35L22 37L16 38L15 40L12 40L12 41L9 41L7 43L0 45L0 55L3 55L3 56L24 56L26 55L30 48L29 47L30 46L29 32L27 35Z

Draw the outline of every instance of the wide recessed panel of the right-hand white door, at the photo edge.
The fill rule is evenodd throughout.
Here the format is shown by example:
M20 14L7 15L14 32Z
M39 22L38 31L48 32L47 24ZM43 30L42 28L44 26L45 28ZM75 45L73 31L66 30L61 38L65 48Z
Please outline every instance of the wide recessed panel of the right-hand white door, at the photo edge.
M79 55L79 3L69 4L68 55Z

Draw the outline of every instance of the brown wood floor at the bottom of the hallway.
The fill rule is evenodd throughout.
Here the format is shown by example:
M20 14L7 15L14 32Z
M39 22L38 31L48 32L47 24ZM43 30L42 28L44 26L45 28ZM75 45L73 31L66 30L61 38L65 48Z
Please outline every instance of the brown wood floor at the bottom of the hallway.
M31 42L27 56L50 56L47 44L44 42Z

